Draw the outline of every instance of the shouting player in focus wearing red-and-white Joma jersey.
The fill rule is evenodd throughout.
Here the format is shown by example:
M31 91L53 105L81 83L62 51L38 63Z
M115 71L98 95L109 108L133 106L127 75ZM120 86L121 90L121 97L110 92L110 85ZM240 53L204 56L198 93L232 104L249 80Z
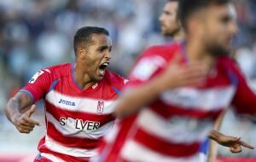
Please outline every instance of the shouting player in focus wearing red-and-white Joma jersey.
M75 63L39 70L6 107L20 133L30 133L31 118L44 99L46 135L35 161L79 162L96 155L98 140L113 125L113 103L126 80L107 69L112 48L108 31L83 27L73 39ZM26 107L25 113L20 113Z

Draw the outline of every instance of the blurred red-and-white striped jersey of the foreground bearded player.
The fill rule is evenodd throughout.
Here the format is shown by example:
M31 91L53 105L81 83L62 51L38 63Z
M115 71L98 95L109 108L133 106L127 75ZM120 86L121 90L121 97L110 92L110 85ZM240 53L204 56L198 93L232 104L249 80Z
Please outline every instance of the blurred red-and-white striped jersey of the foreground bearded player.
M126 88L139 87L158 77L183 55L180 43L146 49L138 59ZM198 162L201 143L214 120L232 104L238 113L256 113L256 96L247 87L236 64L227 56L218 59L204 86L166 90L131 117L120 119L104 136L98 161Z

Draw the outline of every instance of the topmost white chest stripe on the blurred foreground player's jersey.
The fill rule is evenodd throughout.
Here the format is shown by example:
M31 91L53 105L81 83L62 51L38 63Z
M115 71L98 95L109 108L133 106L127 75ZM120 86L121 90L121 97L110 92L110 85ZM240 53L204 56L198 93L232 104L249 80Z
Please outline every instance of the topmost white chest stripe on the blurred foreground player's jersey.
M236 91L235 86L215 87L207 90L195 88L179 88L169 90L160 96L167 104L177 105L185 109L216 110L227 107Z

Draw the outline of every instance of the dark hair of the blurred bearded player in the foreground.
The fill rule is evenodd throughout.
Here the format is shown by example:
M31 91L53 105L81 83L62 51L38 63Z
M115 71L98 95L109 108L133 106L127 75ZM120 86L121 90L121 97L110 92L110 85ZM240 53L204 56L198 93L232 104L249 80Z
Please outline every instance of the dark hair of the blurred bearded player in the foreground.
M189 16L199 9L207 8L211 4L223 5L229 3L230 0L179 0L178 19L184 29L187 27Z

